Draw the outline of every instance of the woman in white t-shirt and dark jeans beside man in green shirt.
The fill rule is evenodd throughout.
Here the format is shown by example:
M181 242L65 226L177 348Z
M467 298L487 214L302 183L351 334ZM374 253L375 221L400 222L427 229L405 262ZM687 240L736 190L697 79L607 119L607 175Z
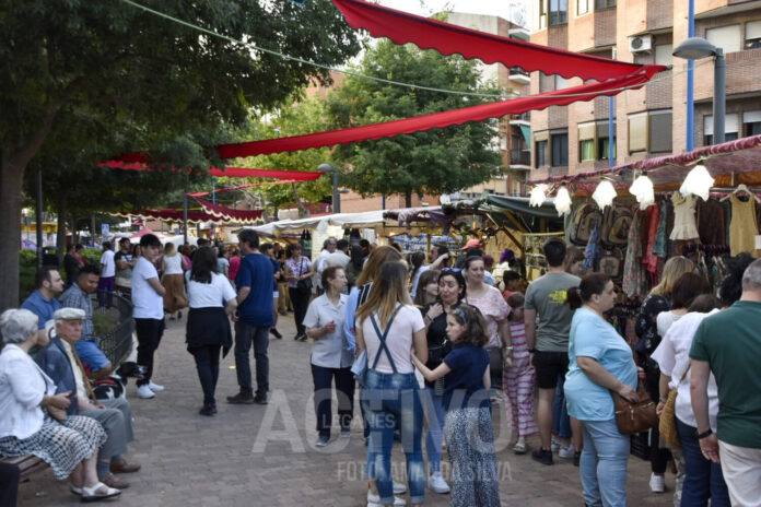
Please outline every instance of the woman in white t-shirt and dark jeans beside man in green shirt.
M690 305L689 313L668 329L652 356L660 367L658 414L663 411L668 391L677 389L675 413L682 449L671 452L675 453L675 458L683 459L684 477L682 490L678 492L681 493L681 505L704 506L707 505L710 498L711 505L714 507L729 506L729 495L722 474L722 465L707 460L701 452L696 436L698 423L692 411L692 396L690 393L692 340L703 319L718 311L719 305L721 303L710 294L696 297ZM716 379L711 374L709 377L709 417L711 428L714 432L716 431L717 416L718 388Z

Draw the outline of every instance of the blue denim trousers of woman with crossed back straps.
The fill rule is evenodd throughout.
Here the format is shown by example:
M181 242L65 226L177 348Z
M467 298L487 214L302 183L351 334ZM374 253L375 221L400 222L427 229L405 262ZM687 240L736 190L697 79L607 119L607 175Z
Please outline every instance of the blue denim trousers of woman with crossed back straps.
M407 457L407 480L410 503L425 499L425 464L423 463L423 403L414 374L380 374L367 369L362 404L370 425L367 468L375 480L380 503L394 503L391 482L391 447L397 422L401 428L401 447Z

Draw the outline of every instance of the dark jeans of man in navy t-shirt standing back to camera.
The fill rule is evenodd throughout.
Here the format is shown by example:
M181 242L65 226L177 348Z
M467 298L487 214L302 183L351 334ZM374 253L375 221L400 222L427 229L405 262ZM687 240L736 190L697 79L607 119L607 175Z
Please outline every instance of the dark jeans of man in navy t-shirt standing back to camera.
M256 394L267 397L269 391L269 326L253 326L238 320L235 322L235 372L238 378L241 392L253 394L251 365L248 353L254 345L254 358L256 359Z

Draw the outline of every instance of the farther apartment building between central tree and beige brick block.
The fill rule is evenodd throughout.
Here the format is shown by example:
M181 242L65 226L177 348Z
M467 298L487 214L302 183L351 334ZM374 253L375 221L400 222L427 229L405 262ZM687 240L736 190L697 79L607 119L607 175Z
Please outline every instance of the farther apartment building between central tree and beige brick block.
M494 15L449 13L447 23L477 30L503 37L528 40L530 32L512 21ZM496 80L500 86L510 90L513 96L529 93L531 78L519 67L507 68L502 63L482 64L484 80ZM460 198L478 198L483 193L497 196L520 196L525 193L525 181L531 169L530 115L510 115L499 120L499 135L494 140L502 155L500 175L481 185L464 189Z

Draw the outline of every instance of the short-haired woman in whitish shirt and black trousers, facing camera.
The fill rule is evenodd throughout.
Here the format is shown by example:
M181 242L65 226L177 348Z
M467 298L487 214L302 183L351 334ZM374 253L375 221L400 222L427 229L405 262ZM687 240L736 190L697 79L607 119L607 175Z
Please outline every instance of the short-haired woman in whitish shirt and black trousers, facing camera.
M325 294L312 300L304 317L306 335L314 340L312 378L315 384L315 412L319 433L317 447L325 447L330 441L330 385L333 378L338 391L338 418L341 436L344 438L351 435L354 404L354 376L351 373L354 357L343 338L349 298L343 294L347 275L340 266L331 266L323 271L321 278Z

